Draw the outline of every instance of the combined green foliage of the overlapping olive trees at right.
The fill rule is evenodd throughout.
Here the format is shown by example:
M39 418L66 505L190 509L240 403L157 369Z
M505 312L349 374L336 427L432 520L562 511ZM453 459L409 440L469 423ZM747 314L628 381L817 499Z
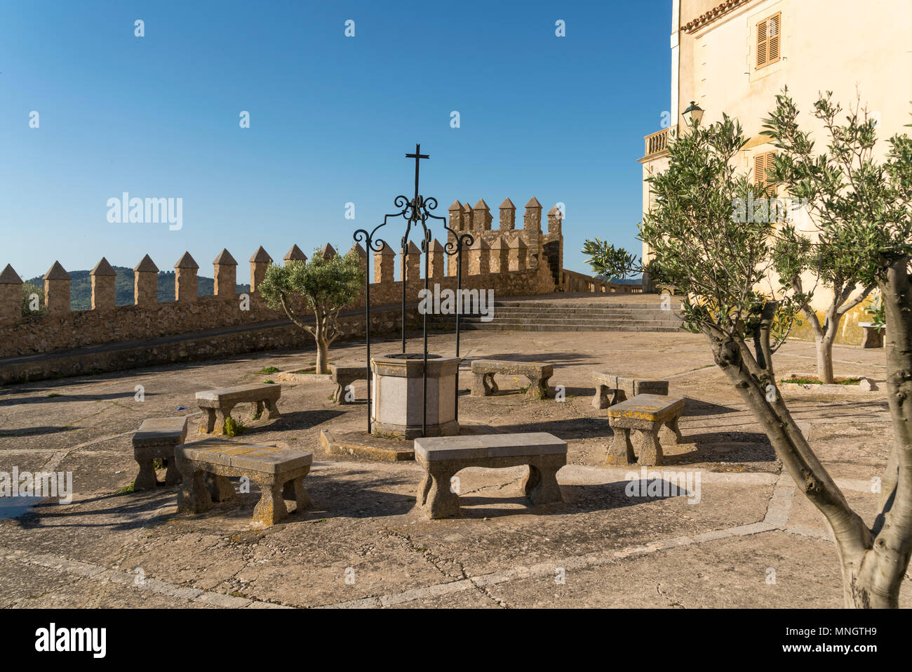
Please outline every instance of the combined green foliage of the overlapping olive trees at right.
M821 153L801 129L788 89L776 96L762 126L778 150L767 176L799 199L810 227L793 226L782 200L768 204L757 176L739 173L746 141L738 121L724 114L710 126L690 125L668 145L668 169L648 177L655 198L640 238L663 279L687 295L683 312L691 330L745 341L774 300L774 340L784 340L799 312L822 337L883 280L886 268L912 255L912 141L894 136L878 163L877 124L866 110L837 121L843 110L827 92L811 114L829 136ZM804 287L809 275L814 283ZM834 296L823 325L810 306L820 285Z

